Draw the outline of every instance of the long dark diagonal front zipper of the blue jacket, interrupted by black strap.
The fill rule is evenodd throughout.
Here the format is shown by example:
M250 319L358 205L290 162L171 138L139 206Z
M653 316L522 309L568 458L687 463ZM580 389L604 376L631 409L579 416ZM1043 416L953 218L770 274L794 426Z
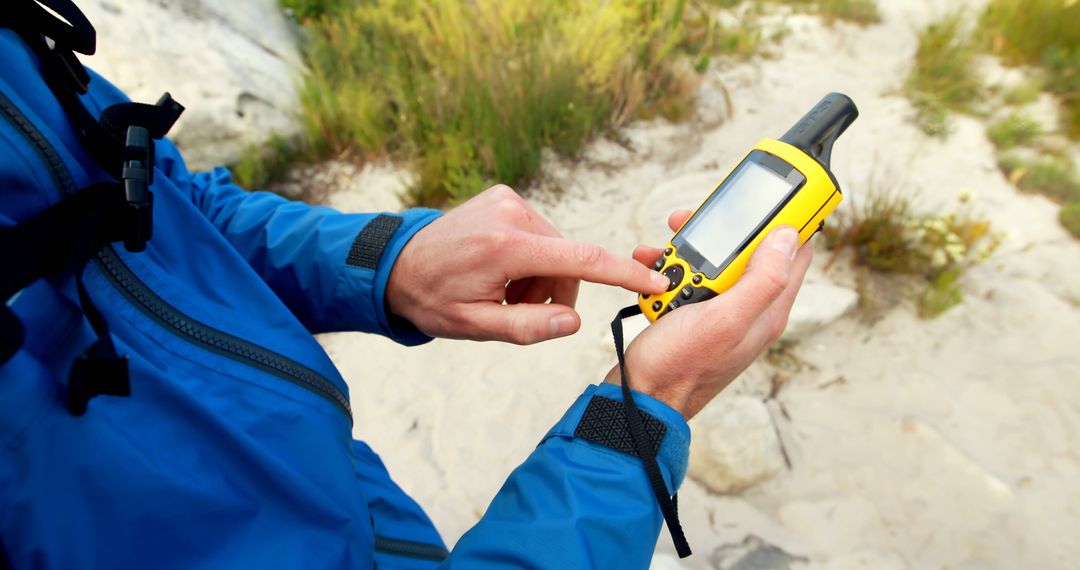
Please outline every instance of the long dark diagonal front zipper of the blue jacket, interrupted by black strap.
M71 194L78 191L70 171L64 164L56 149L3 93L0 93L0 112L31 144L64 193ZM165 330L204 350L314 392L330 401L345 412L349 422L352 423L352 409L349 406L349 401L334 385L334 382L323 375L292 358L213 328L184 314L143 283L123 262L111 245L99 249L94 262L102 270L106 280L124 298Z

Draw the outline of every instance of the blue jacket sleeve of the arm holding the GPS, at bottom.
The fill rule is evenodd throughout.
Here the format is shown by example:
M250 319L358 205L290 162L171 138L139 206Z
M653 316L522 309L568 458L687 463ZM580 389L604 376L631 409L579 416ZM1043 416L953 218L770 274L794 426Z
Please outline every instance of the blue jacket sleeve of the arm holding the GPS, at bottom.
M634 402L647 424L662 426L657 460L674 491L686 474L690 429L657 399L635 392ZM619 450L627 435L620 410L619 386L590 386L443 567L648 568L663 517L640 460Z

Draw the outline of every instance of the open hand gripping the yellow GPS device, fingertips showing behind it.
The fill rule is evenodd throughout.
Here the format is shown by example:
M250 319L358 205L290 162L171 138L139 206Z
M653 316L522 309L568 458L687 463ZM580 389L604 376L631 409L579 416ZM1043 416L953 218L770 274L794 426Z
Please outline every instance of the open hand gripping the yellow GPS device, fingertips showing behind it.
M690 212L672 214L677 230ZM730 289L707 301L684 306L649 325L626 347L630 385L675 408L689 420L720 393L784 327L802 285L813 249L798 249L789 226L773 230ZM634 258L650 264L660 249L638 246ZM619 384L619 366L606 382Z

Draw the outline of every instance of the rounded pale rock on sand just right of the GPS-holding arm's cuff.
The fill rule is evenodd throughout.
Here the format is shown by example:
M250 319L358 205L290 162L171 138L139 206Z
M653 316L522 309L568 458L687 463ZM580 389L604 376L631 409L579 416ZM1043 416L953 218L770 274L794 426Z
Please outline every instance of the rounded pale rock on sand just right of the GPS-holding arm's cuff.
M716 493L733 493L784 469L780 438L757 398L721 395L691 421L690 478Z

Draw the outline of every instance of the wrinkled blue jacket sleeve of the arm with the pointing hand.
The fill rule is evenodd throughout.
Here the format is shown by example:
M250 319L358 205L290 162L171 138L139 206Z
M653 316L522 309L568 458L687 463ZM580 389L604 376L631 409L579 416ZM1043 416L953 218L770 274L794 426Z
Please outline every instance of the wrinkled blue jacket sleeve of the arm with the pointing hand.
M312 332L378 332L403 344L431 340L386 308L397 255L440 213L342 214L325 206L248 192L227 168L190 174L176 147L158 144L159 174L191 201Z

